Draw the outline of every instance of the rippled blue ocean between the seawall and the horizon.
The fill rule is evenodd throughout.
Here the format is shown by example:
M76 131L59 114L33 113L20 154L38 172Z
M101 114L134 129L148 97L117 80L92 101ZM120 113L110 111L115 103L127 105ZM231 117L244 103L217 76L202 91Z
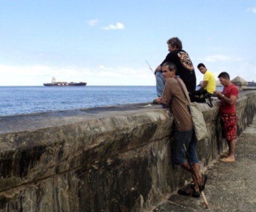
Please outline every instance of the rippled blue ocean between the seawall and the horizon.
M149 103L156 97L155 86L0 86L0 116Z

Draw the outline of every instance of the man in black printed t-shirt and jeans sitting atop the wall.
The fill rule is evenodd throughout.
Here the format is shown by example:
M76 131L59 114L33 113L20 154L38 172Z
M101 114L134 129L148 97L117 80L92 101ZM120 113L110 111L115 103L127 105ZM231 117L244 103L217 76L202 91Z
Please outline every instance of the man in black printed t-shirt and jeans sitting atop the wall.
M182 42L179 38L173 37L167 41L168 51L164 61L155 69L157 96L163 95L165 80L162 75L162 66L166 62L172 62L177 67L177 73L186 85L188 92L193 92L196 87L196 76L194 66L188 54L182 49Z

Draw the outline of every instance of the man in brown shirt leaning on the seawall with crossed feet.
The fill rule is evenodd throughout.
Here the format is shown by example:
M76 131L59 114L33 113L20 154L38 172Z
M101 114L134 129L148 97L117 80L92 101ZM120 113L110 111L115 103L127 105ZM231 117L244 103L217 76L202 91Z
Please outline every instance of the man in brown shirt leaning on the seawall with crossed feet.
M164 63L162 70L165 79L164 93L162 97L156 98L155 101L158 104L169 105L175 120L175 132L172 142L172 162L176 166L181 165L185 170L193 174L192 165L195 175L202 189L204 189L207 175L200 174L200 165L196 153L196 137L192 125L192 117L187 106L187 99L189 99L187 88L183 80L179 76L176 76L177 68L175 64L170 62ZM182 88L187 97L184 95ZM183 144L186 146L191 164L188 164ZM200 190L194 176L193 181L195 186L192 190L186 191L180 189L178 193L191 195L192 197L200 197Z

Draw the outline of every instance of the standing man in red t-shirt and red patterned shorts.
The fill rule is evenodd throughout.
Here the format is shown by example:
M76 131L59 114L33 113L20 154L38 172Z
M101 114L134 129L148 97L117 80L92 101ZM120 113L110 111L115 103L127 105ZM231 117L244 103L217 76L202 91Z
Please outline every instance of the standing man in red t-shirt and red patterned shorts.
M226 138L229 152L222 154L223 162L235 161L235 138L236 138L236 111L235 102L238 98L238 88L230 82L230 76L226 72L219 74L220 83L224 86L223 91L215 91L220 102L222 137Z

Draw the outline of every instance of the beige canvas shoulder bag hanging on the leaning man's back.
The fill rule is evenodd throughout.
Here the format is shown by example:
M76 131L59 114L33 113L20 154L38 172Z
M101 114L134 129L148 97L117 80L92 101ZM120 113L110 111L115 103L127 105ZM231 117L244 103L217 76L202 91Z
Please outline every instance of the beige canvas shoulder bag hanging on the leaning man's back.
M177 79L177 81L178 81L178 79ZM181 86L182 91L187 99L187 95L185 94L185 91L179 81L178 81L178 84L179 84L179 86ZM201 112L201 110L196 102L189 102L187 99L187 103L188 103L188 108L191 113L196 138L197 138L197 140L203 140L204 138L208 137L203 113Z

